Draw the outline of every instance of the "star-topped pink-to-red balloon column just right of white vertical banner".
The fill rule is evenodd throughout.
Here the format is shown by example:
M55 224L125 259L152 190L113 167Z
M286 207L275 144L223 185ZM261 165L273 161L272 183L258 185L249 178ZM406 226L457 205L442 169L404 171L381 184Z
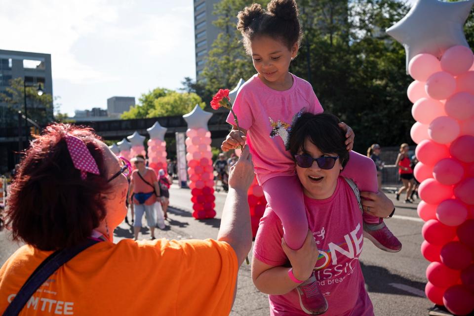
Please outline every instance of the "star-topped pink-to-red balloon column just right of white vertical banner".
M207 130L207 121L211 116L211 113L203 111L198 105L191 113L183 116L188 123L185 140L186 161L188 161L193 217L196 219L216 216L211 133Z

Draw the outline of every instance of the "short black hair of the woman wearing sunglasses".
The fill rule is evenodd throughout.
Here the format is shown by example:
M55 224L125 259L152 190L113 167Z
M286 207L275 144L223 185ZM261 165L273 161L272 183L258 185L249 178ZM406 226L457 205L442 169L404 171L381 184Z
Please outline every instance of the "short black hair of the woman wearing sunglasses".
M288 141L291 156L300 149L306 152L306 140L312 142L324 154L337 154L344 167L349 161L346 149L346 133L339 127L339 118L332 114L303 113L291 126Z

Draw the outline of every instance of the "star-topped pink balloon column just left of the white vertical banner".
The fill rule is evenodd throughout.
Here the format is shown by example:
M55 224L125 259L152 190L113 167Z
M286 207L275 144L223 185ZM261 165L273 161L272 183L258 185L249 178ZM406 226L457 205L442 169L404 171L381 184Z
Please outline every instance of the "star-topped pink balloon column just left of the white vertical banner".
M150 139L148 140L148 163L149 167L153 168L157 174L159 169L163 169L165 173L168 170L166 164L166 142L164 141L166 130L158 121L147 129L148 134L150 134Z

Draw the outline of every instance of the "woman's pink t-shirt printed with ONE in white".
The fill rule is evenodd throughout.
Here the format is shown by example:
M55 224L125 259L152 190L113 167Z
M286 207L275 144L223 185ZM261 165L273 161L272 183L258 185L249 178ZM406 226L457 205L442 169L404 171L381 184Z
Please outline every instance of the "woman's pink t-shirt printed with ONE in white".
M305 196L306 216L319 249L316 278L329 305L324 316L372 316L372 302L365 291L358 257L362 251L362 214L351 187L337 180L334 194L326 199ZM281 248L283 228L268 207L255 238L254 258L282 266L287 257ZM285 295L269 295L270 315L306 315L296 289Z

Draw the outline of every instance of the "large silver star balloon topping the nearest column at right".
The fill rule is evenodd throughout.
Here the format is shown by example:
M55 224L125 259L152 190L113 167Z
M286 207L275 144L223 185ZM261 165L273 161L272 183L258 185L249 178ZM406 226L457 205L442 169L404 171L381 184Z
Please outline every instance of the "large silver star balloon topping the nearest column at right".
M469 47L463 26L473 4L474 0L418 0L407 15L387 29L387 34L405 47L407 73L408 63L418 54L439 58L449 47Z

